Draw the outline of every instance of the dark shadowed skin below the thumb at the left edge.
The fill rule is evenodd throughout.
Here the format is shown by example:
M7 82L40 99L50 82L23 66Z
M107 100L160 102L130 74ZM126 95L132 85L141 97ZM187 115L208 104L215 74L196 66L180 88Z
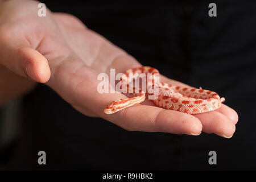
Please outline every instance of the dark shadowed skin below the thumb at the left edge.
M15 75L0 65L0 106L29 92L35 84L34 81Z

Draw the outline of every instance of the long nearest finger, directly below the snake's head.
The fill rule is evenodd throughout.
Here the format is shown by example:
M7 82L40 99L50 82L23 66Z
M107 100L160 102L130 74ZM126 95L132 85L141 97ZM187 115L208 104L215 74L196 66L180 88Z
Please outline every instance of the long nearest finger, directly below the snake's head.
M199 135L202 130L193 115L147 105L128 107L105 118L129 131Z

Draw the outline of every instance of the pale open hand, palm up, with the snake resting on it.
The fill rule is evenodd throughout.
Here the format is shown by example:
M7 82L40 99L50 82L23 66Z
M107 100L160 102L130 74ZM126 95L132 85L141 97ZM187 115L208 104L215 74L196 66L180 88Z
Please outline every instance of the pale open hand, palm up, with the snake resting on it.
M38 3L0 1L1 105L30 92L40 82L81 113L104 118L129 131L188 135L203 131L232 137L238 115L224 104L220 109L191 115L145 101L115 114L105 114L106 105L126 96L98 93L98 74L109 74L110 68L122 73L141 64L72 15L47 10L46 17L39 17ZM161 81L184 85L164 76Z

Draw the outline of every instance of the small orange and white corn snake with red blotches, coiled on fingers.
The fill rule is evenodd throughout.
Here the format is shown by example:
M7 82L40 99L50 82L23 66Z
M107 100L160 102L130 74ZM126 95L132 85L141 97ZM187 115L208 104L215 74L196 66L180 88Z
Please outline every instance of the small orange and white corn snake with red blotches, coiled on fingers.
M129 73L154 74L159 73L159 71L152 67L133 68L127 70L122 78L127 78ZM128 85L129 84L127 84L127 88ZM151 85L154 85L153 78ZM159 84L155 86L157 86L159 89L159 94L158 98L152 100L152 102L154 102L156 106L162 107L164 109L181 111L188 114L205 113L218 109L221 107L222 102L225 101L225 98L220 98L216 92L205 90L201 87L197 89L188 86L166 84L164 82L159 82ZM144 92L140 88L133 87L133 91L135 89L139 89L139 93L133 93L135 97L123 98L113 101L104 109L104 113L113 114L119 110L125 109L126 107L137 105L143 102L148 93Z

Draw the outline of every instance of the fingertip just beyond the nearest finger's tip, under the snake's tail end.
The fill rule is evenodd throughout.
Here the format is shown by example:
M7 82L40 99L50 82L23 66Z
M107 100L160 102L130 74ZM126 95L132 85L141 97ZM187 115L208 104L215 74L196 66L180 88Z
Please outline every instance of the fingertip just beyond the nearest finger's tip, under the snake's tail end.
M214 133L221 137L231 138L236 130L234 123L220 112L210 111L193 115L200 119L205 133Z

